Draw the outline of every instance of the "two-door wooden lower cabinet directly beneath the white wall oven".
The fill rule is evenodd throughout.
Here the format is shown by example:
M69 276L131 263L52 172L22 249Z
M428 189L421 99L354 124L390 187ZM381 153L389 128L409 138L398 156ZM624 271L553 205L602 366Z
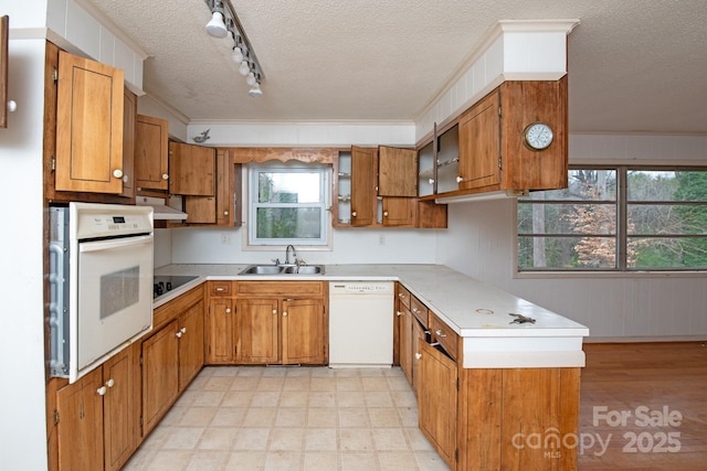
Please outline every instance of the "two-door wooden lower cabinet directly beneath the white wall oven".
M59 469L118 470L138 446L139 346L60 388L55 422Z

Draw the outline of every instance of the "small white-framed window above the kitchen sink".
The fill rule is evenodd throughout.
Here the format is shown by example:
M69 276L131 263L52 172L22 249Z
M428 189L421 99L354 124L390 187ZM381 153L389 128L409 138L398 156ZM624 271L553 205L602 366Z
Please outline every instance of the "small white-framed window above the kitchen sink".
M249 171L250 245L326 246L330 167L254 165Z

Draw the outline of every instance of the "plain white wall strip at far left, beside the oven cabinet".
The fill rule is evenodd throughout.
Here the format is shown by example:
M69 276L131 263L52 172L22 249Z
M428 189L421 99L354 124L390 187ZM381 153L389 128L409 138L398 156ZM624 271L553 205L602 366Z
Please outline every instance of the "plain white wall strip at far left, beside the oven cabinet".
M21 4L19 4L21 3ZM24 10L43 1L0 0L10 28L41 28ZM38 23L38 21L40 21ZM44 40L9 45L9 98L18 104L0 129L0 470L46 469L43 317L42 133ZM1 104L4 106L4 104Z

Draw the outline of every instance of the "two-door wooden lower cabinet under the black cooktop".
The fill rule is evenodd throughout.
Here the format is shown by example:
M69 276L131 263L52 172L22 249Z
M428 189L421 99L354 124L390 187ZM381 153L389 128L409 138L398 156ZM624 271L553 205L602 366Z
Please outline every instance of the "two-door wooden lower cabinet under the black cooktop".
M203 288L156 309L155 329L143 341L144 437L203 366Z

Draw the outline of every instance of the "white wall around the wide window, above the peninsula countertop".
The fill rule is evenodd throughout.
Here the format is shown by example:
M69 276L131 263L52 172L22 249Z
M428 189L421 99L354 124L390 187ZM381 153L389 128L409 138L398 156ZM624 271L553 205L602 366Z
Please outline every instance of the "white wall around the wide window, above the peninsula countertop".
M570 162L707 164L707 137L571 136ZM590 340L707 339L707 277L514 278L513 200L449 206L437 263L590 328Z

